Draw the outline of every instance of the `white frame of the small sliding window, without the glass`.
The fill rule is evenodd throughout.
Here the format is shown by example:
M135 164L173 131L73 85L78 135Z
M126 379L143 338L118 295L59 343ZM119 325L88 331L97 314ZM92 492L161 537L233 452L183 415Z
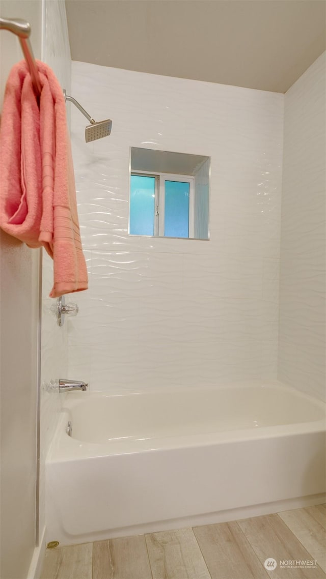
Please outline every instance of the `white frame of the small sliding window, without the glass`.
M158 171L131 171L130 175L139 177L155 177L154 198L154 235L142 237L165 237L166 239L194 239L194 205L195 205L195 178L194 175L180 175L175 173L158 173ZM164 235L165 217L165 181L179 181L189 183L189 234L188 237L168 237ZM130 191L130 189L129 189ZM130 195L130 193L129 193ZM130 197L129 197L130 199ZM129 208L130 220L130 208ZM130 230L130 223L129 223ZM162 232L162 234L161 234ZM130 233L129 233L130 235Z

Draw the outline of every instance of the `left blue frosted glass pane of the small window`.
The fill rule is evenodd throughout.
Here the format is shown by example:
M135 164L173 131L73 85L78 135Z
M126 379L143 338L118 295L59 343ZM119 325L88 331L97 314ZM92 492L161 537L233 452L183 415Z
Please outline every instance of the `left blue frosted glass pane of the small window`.
M130 223L132 235L154 235L155 177L131 175Z

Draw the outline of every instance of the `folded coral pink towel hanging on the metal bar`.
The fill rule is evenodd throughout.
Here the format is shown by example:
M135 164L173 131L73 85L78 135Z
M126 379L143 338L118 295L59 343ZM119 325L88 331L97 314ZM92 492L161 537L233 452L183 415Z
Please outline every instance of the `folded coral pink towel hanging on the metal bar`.
M39 108L26 62L8 78L0 129L0 226L54 263L51 298L86 290L66 102L53 71L37 61Z

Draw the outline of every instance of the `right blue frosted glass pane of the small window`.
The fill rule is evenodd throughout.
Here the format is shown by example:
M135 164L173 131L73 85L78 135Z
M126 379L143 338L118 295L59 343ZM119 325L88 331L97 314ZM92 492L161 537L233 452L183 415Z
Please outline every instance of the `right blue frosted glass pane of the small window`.
M165 181L165 237L189 237L189 183Z

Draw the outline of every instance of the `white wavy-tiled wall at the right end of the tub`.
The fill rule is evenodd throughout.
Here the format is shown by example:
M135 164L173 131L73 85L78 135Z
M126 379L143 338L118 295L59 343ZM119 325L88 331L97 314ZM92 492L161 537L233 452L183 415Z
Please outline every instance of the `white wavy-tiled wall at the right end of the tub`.
M326 397L326 53L285 94L281 380Z

